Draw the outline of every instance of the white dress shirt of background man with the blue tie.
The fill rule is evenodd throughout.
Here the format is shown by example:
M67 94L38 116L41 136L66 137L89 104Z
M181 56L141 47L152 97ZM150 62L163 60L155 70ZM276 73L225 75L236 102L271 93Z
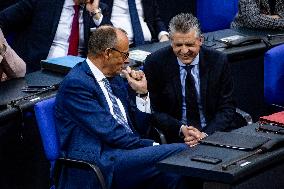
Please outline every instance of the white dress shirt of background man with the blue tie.
M144 40L151 41L152 35L147 26L147 23L144 21L143 7L141 0L135 0L140 24L143 30ZM131 19L129 14L128 0L113 0L112 13L111 13L111 22L115 27L122 28L127 32L129 43L133 43L133 31L131 25ZM158 38L164 34L168 34L166 31L161 31L158 35Z

